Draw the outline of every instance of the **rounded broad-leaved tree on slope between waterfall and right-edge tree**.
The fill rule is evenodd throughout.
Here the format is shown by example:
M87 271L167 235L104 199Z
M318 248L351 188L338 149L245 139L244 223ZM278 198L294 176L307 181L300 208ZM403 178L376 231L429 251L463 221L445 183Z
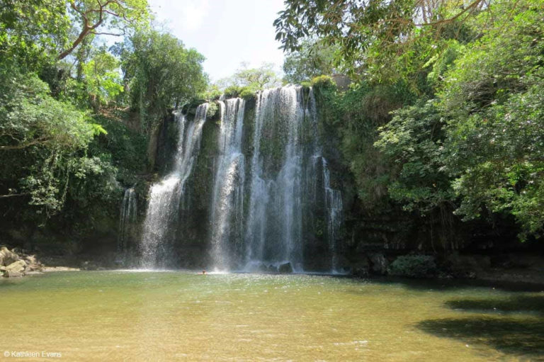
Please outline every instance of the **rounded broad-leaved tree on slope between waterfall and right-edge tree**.
M445 120L434 101L419 101L393 114L389 123L378 128L375 142L392 164L389 195L405 210L428 213L454 198L443 167Z

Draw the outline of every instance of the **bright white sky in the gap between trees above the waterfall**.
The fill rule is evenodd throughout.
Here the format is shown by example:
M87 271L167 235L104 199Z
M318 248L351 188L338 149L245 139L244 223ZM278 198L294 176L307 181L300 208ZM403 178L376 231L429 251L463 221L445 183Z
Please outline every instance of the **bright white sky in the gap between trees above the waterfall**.
M280 71L283 52L274 40L272 23L283 0L149 0L149 4L169 33L206 57L204 70L212 81L229 77L241 62L249 62L249 67L271 62Z

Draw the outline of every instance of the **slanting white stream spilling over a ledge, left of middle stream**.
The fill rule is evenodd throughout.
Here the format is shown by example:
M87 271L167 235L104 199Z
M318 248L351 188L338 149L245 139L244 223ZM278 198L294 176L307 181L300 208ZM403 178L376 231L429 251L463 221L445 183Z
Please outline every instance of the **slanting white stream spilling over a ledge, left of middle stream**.
M162 181L151 187L140 243L142 268L165 268L171 264L171 243L176 232L174 226L179 217L186 181L200 150L200 136L207 110L208 103L198 106L195 120L190 123L185 115L176 114L178 140L174 167Z

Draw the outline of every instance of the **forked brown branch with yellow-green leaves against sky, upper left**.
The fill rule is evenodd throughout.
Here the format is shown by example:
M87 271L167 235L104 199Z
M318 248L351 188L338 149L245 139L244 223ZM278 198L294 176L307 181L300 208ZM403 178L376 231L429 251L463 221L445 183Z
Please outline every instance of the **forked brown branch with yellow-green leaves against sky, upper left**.
M89 35L125 35L130 28L145 25L149 17L147 0L71 0L69 6L80 25L69 47L60 52L59 60L70 55Z

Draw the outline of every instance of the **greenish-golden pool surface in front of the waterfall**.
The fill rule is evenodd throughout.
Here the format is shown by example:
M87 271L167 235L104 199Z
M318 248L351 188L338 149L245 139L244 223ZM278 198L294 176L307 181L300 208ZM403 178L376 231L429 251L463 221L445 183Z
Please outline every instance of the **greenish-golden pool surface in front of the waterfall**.
M0 281L0 353L60 352L65 361L534 361L544 360L543 314L543 292L444 282L48 273Z

